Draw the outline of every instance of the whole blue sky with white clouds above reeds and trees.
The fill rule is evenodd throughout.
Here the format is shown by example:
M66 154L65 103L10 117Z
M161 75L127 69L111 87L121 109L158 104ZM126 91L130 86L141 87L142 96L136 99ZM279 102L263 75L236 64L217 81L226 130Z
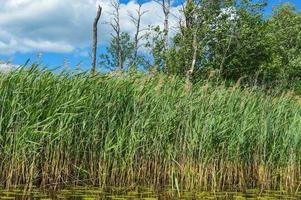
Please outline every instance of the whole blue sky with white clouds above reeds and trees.
M174 0L170 19L171 28L176 26L180 3ZM301 10L301 0L268 0L266 15L273 6L291 2ZM133 35L135 27L129 13L135 14L137 0L120 0L121 29ZM142 27L163 25L163 13L153 0L139 0L148 12L143 16ZM49 67L68 63L74 67L82 62L90 66L92 23L97 5L103 7L99 22L98 53L105 51L110 40L112 6L109 0L0 0L0 61L17 65L40 59Z

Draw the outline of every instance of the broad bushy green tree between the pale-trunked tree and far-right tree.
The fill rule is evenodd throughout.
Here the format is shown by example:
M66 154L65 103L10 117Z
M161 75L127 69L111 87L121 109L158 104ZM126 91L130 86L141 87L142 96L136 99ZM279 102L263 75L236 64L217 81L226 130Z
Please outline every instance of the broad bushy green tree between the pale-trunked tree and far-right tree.
M220 78L252 80L269 59L268 44L263 39L266 33L263 6L246 1L239 6L224 7L217 15L209 33L206 67L216 70Z

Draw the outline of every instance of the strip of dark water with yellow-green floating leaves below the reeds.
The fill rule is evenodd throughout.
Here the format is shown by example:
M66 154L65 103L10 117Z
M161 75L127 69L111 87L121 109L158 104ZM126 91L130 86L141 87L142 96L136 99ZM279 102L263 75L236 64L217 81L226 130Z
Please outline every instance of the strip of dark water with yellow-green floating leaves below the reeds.
M115 199L115 200L156 200L156 199L301 199L300 196L292 196L281 191L264 191L260 193L258 190L248 190L246 193L237 192L180 192L176 190L166 189L164 191L155 192L148 188L110 188L101 190L99 188L77 187L60 190L56 193L32 190L24 192L22 189L12 191L0 190L0 199L74 199L74 200L94 200L94 199Z

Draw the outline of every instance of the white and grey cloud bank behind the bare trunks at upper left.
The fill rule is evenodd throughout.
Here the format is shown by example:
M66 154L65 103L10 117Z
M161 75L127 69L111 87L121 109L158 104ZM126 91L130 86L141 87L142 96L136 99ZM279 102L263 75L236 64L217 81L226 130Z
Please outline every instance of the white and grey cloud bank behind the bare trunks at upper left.
M99 24L99 43L107 44L110 37L113 8L109 0L1 0L0 7L0 55L16 52L67 53L89 47L92 23L97 4L103 7ZM121 27L134 34L135 27L128 13L135 14L136 1L121 4ZM163 24L161 7L153 0L143 4L148 12L142 26ZM178 8L172 11L177 13ZM171 25L176 23L171 17ZM174 22L174 23L173 23Z

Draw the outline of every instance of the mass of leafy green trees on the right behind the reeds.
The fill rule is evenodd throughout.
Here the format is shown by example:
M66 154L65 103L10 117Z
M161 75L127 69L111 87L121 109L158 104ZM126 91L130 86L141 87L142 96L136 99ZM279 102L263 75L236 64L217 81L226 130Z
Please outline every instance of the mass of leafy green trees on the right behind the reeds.
M184 76L189 70L193 32L197 31L195 80L207 79L214 72L222 80L294 88L301 74L300 12L284 4L265 19L265 5L190 1L184 9L185 25L167 54L170 73Z

